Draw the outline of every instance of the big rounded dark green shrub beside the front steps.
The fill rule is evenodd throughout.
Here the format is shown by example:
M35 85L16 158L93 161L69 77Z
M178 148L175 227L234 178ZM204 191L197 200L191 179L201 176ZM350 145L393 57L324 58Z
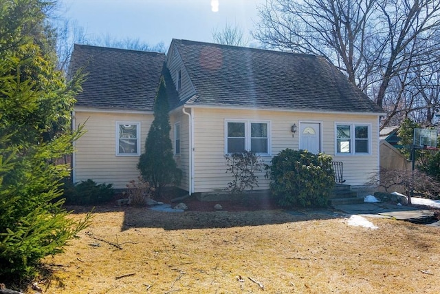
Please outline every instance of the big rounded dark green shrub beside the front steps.
M331 156L285 149L267 167L270 191L282 207L325 207L334 186Z

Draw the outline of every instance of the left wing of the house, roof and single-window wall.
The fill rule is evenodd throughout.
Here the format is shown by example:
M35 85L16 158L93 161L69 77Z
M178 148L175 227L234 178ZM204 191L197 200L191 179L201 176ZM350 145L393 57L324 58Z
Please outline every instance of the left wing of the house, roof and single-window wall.
M153 122L165 54L75 45L69 75L83 69L72 125L85 124L72 156L74 182L92 179L126 188Z

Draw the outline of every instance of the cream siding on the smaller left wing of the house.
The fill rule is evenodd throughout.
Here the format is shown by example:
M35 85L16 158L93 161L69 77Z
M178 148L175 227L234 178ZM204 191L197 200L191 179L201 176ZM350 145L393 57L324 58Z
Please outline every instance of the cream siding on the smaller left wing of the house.
M141 123L141 154L148 129L153 121L152 114L118 114L76 111L75 124L85 123L87 132L75 143L74 181L91 179L99 183L112 183L115 189L125 189L130 180L139 176L139 156L115 155L115 122L131 121Z

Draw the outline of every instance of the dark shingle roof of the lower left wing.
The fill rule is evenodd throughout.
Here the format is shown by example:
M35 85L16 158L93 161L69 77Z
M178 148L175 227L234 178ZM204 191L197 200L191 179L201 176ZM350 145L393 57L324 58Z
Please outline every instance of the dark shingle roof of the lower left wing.
M151 110L165 54L75 45L69 71L88 73L76 105Z

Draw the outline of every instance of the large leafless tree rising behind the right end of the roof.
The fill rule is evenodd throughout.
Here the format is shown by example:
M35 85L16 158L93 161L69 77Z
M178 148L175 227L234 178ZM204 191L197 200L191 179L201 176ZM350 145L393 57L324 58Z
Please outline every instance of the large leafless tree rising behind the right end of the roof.
M259 14L255 39L325 56L386 109L384 125L411 111L417 69L439 63L438 0L268 0Z

